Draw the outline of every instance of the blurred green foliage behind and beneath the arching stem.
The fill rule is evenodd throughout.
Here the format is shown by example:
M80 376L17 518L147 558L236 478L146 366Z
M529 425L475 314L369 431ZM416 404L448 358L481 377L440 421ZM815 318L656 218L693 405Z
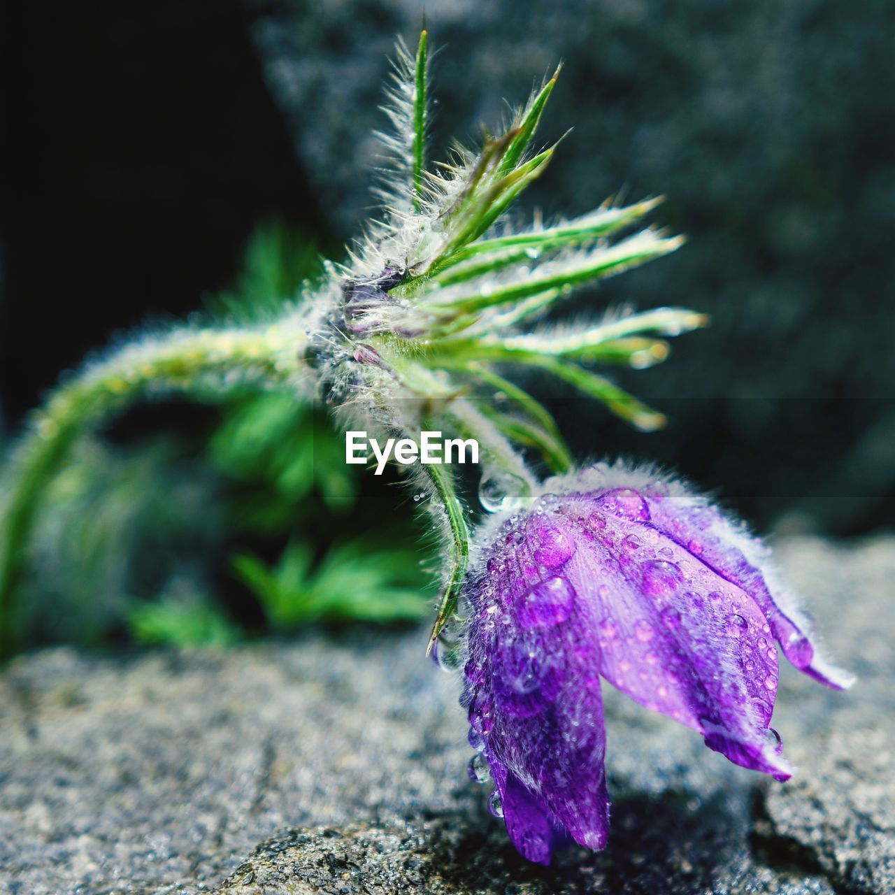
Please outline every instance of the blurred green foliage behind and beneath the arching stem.
M234 287L209 311L264 320L319 270L312 241L262 225ZM198 428L190 435L175 424L75 447L47 490L31 547L24 647L226 647L313 623L405 623L430 611L409 501L395 509L382 483L345 465L326 413L286 392L189 413ZM139 414L137 430L156 430Z

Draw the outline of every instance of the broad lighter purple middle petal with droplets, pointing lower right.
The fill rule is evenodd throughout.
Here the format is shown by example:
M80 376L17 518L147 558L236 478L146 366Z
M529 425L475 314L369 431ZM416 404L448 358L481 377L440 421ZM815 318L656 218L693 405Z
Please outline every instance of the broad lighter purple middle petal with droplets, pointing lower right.
M761 609L648 522L605 509L590 495L563 505L583 541L566 574L601 675L732 762L788 777L767 734L778 668Z

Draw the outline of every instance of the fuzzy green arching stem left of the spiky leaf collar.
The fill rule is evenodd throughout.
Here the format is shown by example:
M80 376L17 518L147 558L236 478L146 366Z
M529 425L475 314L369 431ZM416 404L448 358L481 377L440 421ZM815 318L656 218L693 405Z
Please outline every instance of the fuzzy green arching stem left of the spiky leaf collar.
M232 375L241 385L294 383L302 372L294 345L287 328L181 332L128 345L56 388L33 416L5 476L9 490L0 532L0 658L13 650L13 618L40 496L72 441L149 392L208 396L209 387L226 388Z

